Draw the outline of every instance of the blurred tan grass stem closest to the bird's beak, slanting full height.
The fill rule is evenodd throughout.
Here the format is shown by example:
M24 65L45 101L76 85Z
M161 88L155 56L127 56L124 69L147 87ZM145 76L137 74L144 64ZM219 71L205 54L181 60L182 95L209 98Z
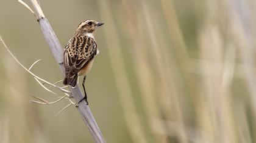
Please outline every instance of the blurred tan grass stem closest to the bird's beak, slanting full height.
M133 142L147 142L144 135L143 127L137 115L135 103L132 99L132 88L127 78L126 66L121 53L122 45L119 43L119 36L115 29L115 22L110 11L110 6L105 0L98 0L99 13L103 21L107 22L105 28L105 38L108 47L108 57L113 69L118 95L123 107L124 118L126 119L127 128Z

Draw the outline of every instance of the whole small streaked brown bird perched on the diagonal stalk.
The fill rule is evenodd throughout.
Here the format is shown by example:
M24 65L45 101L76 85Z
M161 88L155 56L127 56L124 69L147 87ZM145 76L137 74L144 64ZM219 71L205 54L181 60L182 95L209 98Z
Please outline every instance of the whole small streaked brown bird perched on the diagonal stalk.
M82 85L84 88L84 98L79 102L87 101L87 93L85 91L85 79L93 65L94 56L98 55L99 50L94 39L96 28L104 23L94 20L84 20L80 22L74 32L73 38L69 39L63 53L63 65L65 68L64 85L76 87L77 78L84 76ZM79 102L77 104L79 104Z

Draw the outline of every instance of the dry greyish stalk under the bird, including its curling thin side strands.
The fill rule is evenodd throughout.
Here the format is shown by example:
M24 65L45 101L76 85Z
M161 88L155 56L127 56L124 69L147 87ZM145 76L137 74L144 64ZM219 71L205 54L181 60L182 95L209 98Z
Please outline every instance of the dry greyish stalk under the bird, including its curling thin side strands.
M64 76L65 70L63 67L63 48L60 45L60 42L57 39L54 31L52 30L51 25L49 24L48 20L45 18L44 14L43 14L43 10L41 10L40 4L38 3L37 0L31 0L31 3L34 7L34 10L32 10L32 8L30 8L22 0L18 0L18 2L20 2L20 4L22 4L24 7L26 7L37 18L37 21L39 22L41 30L43 32L43 36L46 39L46 42L48 43L49 48L51 49L51 52L55 58L55 61L59 64L59 68L60 68L60 71L62 72L62 75ZM32 64L30 66L30 68L27 69L10 52L9 48L4 43L4 41L2 40L1 37L0 37L0 41L2 42L2 44L4 44L4 47L10 53L10 55L15 59L15 61L18 62L18 64L20 64L21 67L23 67L27 72L29 72L30 75L34 76L34 78L38 82L38 84L40 84L45 90L56 95L53 91L49 90L47 87L44 86L44 84L48 84L48 85L51 85L52 87L58 88L60 91L62 91L65 94L65 96L60 97L57 101L54 101L54 102L48 102L44 99L38 98L37 96L33 96L34 98L38 99L39 101L32 101L32 102L36 102L38 104L54 104L55 102L58 102L62 99L68 99L70 101L70 104L66 105L66 107L65 107L65 108L68 108L70 105L75 104L74 102L72 102L69 99L71 97L71 95L74 97L76 102L78 102L78 101L80 101L80 99L84 98L84 96L78 86L76 86L75 88L69 88L70 91L68 91L68 90L64 89L66 87L59 87L59 86L55 85L55 84L57 84L57 82L55 84L51 84L50 82L48 82L44 79L41 79L40 77L38 77L37 75L32 73L30 71L31 68L40 60L34 62L34 64ZM63 108L61 111L59 111L59 113L62 112L63 110L65 110L65 108ZM86 105L86 102L85 101L80 102L80 104L77 105L77 109L78 109L80 115L82 116L82 119L84 120L85 124L87 125L88 129L90 130L90 133L94 138L94 141L97 143L102 143L102 142L104 143L105 140L102 136L102 133L99 130L99 127L98 127L95 119L93 118L93 114L91 113L90 108L88 107L88 105Z

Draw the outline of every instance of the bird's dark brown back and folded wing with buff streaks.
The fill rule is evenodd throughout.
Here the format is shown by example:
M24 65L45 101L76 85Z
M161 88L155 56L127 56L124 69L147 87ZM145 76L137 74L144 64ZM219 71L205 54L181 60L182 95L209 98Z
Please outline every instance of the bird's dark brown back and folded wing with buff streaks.
M97 44L88 36L75 36L68 41L64 50L66 77L76 75L97 53Z

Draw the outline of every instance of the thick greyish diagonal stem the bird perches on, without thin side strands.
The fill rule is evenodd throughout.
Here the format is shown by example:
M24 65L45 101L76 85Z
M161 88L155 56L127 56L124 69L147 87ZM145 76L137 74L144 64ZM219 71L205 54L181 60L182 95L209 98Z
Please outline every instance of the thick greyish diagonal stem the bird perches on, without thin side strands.
M62 73L62 76L65 76L65 69L63 67L63 48L60 45L60 42L57 36L55 35L54 30L52 30L51 25L49 24L48 20L45 18L43 14L43 10L41 10L41 7L38 4L38 1L31 0L31 2L35 9L35 13L38 18L37 20L40 24L43 36L49 45L49 48L52 52L52 55L55 58L55 61L57 62L57 64L59 64L59 68ZM79 102L80 99L84 98L78 86L76 86L75 88L69 87L69 90L74 96L74 99L76 100L76 102ZM99 130L99 127L93 117L93 114L91 113L90 108L86 104L87 103L85 101L80 102L79 106L77 106L77 109L80 115L82 116L82 119L84 120L85 124L87 125L88 129L90 130L90 133L94 138L94 141L97 143L98 142L104 143L105 139L102 136L101 130Z

